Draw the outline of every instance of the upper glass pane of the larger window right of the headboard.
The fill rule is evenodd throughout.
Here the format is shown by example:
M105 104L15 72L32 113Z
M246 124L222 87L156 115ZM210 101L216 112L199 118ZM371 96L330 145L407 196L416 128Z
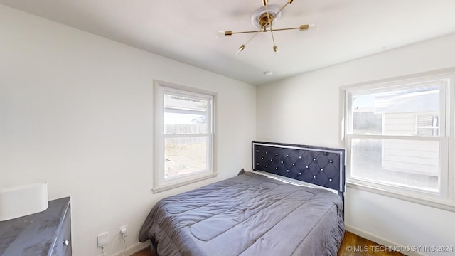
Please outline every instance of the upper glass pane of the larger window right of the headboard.
M352 95L353 134L440 136L439 85Z

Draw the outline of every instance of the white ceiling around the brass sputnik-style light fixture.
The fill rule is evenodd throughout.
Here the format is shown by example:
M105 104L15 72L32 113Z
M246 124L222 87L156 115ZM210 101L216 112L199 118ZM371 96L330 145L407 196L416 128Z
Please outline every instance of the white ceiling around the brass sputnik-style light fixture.
M287 0L269 0L283 6ZM316 23L314 31L252 31L260 0L0 0L0 4L183 63L262 85L419 41L455 33L454 0L295 0L274 28ZM272 71L274 75L264 75Z

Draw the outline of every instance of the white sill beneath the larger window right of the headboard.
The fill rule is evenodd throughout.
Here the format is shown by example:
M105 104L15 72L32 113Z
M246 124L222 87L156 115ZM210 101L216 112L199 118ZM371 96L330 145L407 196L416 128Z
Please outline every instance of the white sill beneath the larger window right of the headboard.
M400 199L400 200L403 200L403 201L408 201L408 202L411 202L411 203L418 203L418 204L421 204L421 205L424 205L424 206L429 206L429 207L433 207L433 208L439 208L439 209L442 209L442 210L449 210L451 212L455 212L455 202L452 202L452 201L448 201L448 200L442 200L441 198L422 198L422 194L424 193L420 193L421 195L419 195L418 197L416 195L411 195L409 193L405 193L403 191L390 191L390 190L394 190L393 186L375 186L374 184L371 184L370 183L363 183L362 181L357 181L357 180L354 180L354 179L351 179L351 178L347 178L346 179L346 183L348 186L348 188L355 188L355 189L358 189L358 190L361 190L361 191L367 191L367 192L370 192L370 193L376 193L376 194L379 194L381 196L387 196L387 197L390 197L390 198L396 198L396 199ZM386 190L386 188L388 188Z

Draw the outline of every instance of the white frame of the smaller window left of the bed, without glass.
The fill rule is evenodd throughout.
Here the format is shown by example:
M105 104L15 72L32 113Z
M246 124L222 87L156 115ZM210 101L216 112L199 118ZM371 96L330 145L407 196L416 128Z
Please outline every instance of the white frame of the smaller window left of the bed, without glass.
M200 98L210 102L208 108L208 133L191 134L188 136L207 137L207 170L198 171L195 174L188 174L181 177L165 179L164 177L164 140L173 137L173 134L164 134L164 94L181 95L186 97ZM185 186L189 183L203 181L217 176L215 170L215 93L199 90L193 87L176 85L171 82L154 80L154 193L166 191L172 188ZM179 134L178 137L186 137L186 134Z

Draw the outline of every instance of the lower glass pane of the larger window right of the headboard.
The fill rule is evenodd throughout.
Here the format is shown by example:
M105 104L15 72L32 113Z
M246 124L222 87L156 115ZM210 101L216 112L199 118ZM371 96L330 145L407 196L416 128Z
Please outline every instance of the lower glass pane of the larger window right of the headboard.
M350 176L439 192L439 142L352 139Z

